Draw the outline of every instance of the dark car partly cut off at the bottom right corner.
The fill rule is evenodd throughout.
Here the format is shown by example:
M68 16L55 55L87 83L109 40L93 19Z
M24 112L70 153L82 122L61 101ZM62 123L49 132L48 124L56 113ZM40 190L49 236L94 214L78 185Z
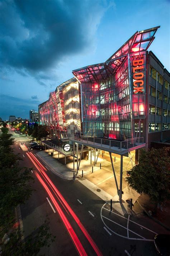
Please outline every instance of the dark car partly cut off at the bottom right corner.
M170 255L170 235L157 234L154 239L155 247L159 255Z

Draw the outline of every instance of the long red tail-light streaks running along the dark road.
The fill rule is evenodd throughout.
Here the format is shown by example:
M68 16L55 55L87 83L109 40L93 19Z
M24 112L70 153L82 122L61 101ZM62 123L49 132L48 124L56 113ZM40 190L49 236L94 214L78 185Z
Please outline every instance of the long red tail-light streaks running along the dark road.
M74 213L74 211L71 209L71 207L69 206L69 204L66 202L65 198L61 195L61 193L58 191L58 189L55 187L55 185L52 183L52 181L49 179L48 175L44 172L44 170L46 170L44 168L44 166L38 161L38 159L31 153L28 152L27 153L28 157L30 158L30 160L33 162L33 164L36 166L36 168L38 169L38 171L43 175L43 177L46 179L46 181L48 182L49 186L52 188L53 192L55 193L55 195L57 196L57 198L60 200L61 203L63 203L67 210L70 212L70 214L72 215L72 217L74 218L74 220L76 221L76 223L79 225L80 229L82 230L82 232L84 233L85 237L88 239L89 243L91 244L91 246L93 247L94 251L96 252L96 254L102 255L101 252L99 251L98 247L96 246L95 242L93 241L93 239L90 237L89 233L87 232L87 230L84 228L84 226L82 225L82 223L80 222L79 218L76 216L76 214ZM32 159L33 158L33 159ZM39 165L39 167L41 167L41 169L37 166L37 164ZM36 174L37 176L37 174ZM40 177L40 176L39 176ZM39 178L37 176L37 178ZM41 178L41 177L40 177ZM40 181L41 182L41 181ZM41 182L42 183L42 182ZM44 183L45 184L45 183ZM42 184L43 185L43 184ZM49 190L49 189L48 189ZM47 192L48 193L48 192ZM51 192L50 192L51 193ZM49 195L49 194L48 194ZM50 197L50 195L49 195ZM52 200L52 199L51 199ZM55 200L55 198L54 198ZM52 200L53 201L53 200ZM57 202L56 202L57 203ZM54 203L53 203L54 204ZM63 205L62 204L62 205ZM55 204L54 204L55 205ZM55 205L56 206L56 205ZM60 207L60 206L59 206ZM63 206L64 207L64 206ZM65 207L64 207L65 208ZM56 208L57 209L57 208ZM58 211L58 210L57 210Z

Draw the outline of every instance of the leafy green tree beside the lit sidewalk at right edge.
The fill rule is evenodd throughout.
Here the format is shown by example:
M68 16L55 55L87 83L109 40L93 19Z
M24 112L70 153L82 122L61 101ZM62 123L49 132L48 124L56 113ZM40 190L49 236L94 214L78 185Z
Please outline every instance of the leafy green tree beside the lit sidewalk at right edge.
M139 164L127 173L130 187L147 194L151 201L163 204L170 199L170 148L140 150Z

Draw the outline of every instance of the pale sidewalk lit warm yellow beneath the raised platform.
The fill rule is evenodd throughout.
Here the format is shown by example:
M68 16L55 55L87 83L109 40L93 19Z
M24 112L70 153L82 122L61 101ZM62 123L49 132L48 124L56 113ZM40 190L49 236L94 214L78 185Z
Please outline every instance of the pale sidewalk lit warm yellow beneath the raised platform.
M115 180L113 175L113 170L110 169L110 161L103 160L102 158L98 157L98 162L96 166L93 166L93 173L92 173L92 165L94 164L94 157L92 157L92 165L90 161L81 160L80 170L77 174L76 166L77 162L75 159L75 171L73 168L72 157L67 156L66 165L64 156L59 155L57 152L54 152L54 155L51 156L52 150L46 150L42 152L38 152L37 156L45 163L45 165L56 175L63 179L73 179L73 173L75 172L75 178L85 187L90 189L93 193L99 196L103 201L108 202L112 199L113 202L113 209L119 212L121 215L126 214L129 212L129 201L132 198L132 202L136 202L137 198L140 196L136 191L130 188L125 181L125 177L123 175L123 183L122 183L122 203L119 202L119 196L117 195L117 189L115 186ZM58 159L59 157L59 159ZM120 182L120 167L119 167L120 160L117 160L113 163L115 168L115 174L117 177L118 184ZM100 169L101 163L101 169ZM124 163L124 174L126 173L126 165ZM83 170L83 177L82 177L82 170ZM110 202L108 202L110 204Z

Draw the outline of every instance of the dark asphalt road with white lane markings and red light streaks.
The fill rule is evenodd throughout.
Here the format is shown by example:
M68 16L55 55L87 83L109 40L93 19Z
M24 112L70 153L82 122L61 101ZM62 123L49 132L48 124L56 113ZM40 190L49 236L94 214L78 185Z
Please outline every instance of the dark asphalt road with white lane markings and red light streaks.
M45 255L157 255L156 233L166 229L147 216L110 212L109 205L77 180L63 180L48 170L29 149L28 137L12 132L20 166L33 167L36 189L20 205L24 237L36 232L48 214L50 231L56 236Z

